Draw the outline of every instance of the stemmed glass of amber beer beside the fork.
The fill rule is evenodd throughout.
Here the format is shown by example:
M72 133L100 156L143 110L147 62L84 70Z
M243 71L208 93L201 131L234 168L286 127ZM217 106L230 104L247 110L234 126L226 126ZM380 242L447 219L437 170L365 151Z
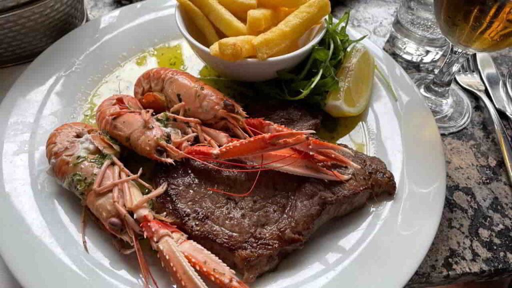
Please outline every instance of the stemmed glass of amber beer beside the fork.
M439 132L457 132L470 121L466 94L452 86L466 58L512 46L512 0L434 0L441 33L450 41L450 53L436 75L415 73L416 83L432 110Z

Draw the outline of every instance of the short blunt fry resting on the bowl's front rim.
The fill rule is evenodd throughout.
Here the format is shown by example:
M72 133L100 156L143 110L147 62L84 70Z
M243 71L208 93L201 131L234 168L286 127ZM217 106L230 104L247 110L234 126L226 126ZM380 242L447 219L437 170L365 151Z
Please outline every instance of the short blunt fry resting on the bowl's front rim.
M220 39L217 42L219 45L219 57L228 61L237 61L254 56L256 54L252 45L254 37L247 35Z

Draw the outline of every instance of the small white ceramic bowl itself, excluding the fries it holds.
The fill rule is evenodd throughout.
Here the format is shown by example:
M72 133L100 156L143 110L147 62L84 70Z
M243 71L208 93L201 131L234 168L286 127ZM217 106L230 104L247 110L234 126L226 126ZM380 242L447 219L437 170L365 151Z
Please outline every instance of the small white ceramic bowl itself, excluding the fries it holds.
M175 13L178 29L197 56L221 75L240 81L256 82L269 80L278 76L276 72L295 67L309 55L313 49L313 45L317 44L320 39L322 39L326 31L325 23L322 22L322 25L318 25L318 27L314 27L314 29L312 28L305 33L308 42L305 43L302 48L282 56L271 57L265 60L249 58L238 61L227 61L211 55L208 47L199 43L188 33L179 7L180 5L178 4ZM310 36L307 37L308 35ZM299 43L305 42L304 38L305 37L301 38Z

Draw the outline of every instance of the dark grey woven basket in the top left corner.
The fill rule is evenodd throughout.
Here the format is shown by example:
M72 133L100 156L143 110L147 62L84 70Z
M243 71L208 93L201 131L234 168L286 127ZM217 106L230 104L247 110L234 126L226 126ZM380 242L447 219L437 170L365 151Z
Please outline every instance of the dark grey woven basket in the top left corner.
M83 0L40 0L0 13L0 67L34 59L86 20Z

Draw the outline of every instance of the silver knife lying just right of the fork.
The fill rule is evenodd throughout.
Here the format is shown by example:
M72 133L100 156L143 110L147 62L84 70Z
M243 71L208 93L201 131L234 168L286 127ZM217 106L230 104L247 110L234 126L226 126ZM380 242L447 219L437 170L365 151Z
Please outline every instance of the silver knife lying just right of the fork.
M496 109L505 113L508 120L512 122L512 99L507 97L505 84L501 80L498 70L496 70L493 59L486 53L478 53L476 58L480 74Z

